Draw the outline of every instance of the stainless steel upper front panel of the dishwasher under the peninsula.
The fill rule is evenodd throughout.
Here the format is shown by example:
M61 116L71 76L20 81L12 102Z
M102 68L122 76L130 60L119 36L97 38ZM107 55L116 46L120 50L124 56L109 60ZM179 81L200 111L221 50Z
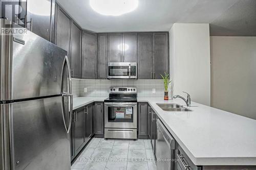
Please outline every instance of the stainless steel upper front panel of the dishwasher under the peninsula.
M165 128L160 119L157 119L157 129L162 133L164 139L169 144L170 149L175 150L175 139L169 133L169 131Z

